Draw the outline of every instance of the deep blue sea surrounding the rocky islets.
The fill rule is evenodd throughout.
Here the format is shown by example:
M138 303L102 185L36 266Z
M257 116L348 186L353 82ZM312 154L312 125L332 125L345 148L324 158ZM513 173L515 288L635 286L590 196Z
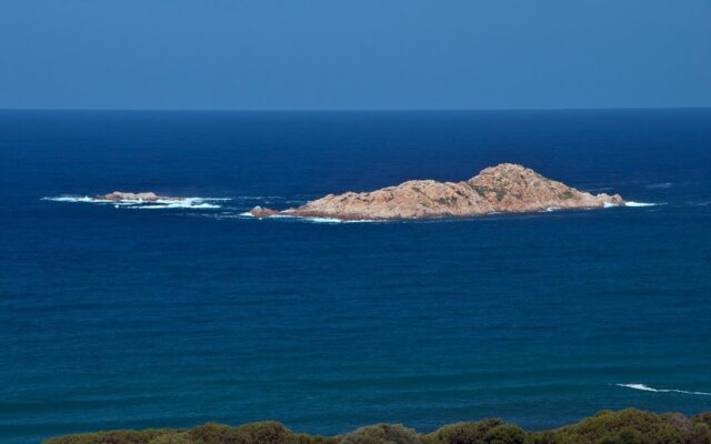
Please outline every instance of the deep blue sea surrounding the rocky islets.
M657 205L239 216L499 162ZM113 190L230 200L41 200ZM711 410L711 110L2 111L0 198L3 443Z

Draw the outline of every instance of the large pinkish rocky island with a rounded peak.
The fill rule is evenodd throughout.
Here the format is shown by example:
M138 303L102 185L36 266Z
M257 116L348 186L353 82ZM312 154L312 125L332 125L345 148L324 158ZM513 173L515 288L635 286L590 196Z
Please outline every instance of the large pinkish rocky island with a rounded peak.
M619 195L591 194L513 163L482 170L463 182L413 180L375 191L329 194L299 208L256 206L256 218L289 215L338 220L463 218L491 213L601 209L624 205Z

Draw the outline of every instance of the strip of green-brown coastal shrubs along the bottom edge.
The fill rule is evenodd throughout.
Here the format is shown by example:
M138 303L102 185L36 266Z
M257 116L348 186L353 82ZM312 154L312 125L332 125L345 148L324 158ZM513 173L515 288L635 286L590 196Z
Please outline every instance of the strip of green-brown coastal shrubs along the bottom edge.
M537 432L495 418L449 424L430 433L377 424L339 436L294 433L277 422L238 427L208 423L188 430L76 434L44 444L711 444L711 412L687 417L634 408L601 411L572 425Z

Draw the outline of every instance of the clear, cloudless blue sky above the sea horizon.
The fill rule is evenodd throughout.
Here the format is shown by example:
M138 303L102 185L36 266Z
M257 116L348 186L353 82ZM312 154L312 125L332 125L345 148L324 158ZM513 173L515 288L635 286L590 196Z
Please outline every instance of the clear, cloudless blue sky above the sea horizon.
M711 105L711 0L0 0L0 108Z

